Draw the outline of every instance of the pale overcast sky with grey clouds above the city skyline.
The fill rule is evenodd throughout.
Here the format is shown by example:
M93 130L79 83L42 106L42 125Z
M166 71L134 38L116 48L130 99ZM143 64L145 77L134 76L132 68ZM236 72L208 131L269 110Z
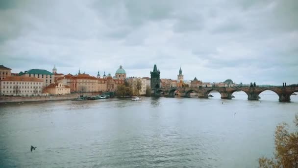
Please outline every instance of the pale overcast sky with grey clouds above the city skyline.
M298 83L298 0L202 1L0 0L0 64Z

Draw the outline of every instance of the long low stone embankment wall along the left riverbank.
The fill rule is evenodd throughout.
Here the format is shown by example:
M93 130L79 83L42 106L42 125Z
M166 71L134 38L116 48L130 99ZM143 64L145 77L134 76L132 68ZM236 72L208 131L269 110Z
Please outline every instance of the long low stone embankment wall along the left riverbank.
M67 95L57 95L57 96L32 96L32 97L18 97L18 96L0 96L0 103L10 103L10 102L34 102L34 101L51 101L51 100L72 100L77 98L79 95L92 96L98 95L99 93L72 93Z

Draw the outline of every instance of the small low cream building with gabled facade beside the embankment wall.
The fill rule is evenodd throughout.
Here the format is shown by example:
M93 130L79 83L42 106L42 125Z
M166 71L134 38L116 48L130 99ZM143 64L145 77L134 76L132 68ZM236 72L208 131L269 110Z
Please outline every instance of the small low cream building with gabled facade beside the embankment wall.
M49 93L49 95L64 95L64 94L70 94L71 88L60 82L60 83L49 84L47 87L44 88L44 92Z

